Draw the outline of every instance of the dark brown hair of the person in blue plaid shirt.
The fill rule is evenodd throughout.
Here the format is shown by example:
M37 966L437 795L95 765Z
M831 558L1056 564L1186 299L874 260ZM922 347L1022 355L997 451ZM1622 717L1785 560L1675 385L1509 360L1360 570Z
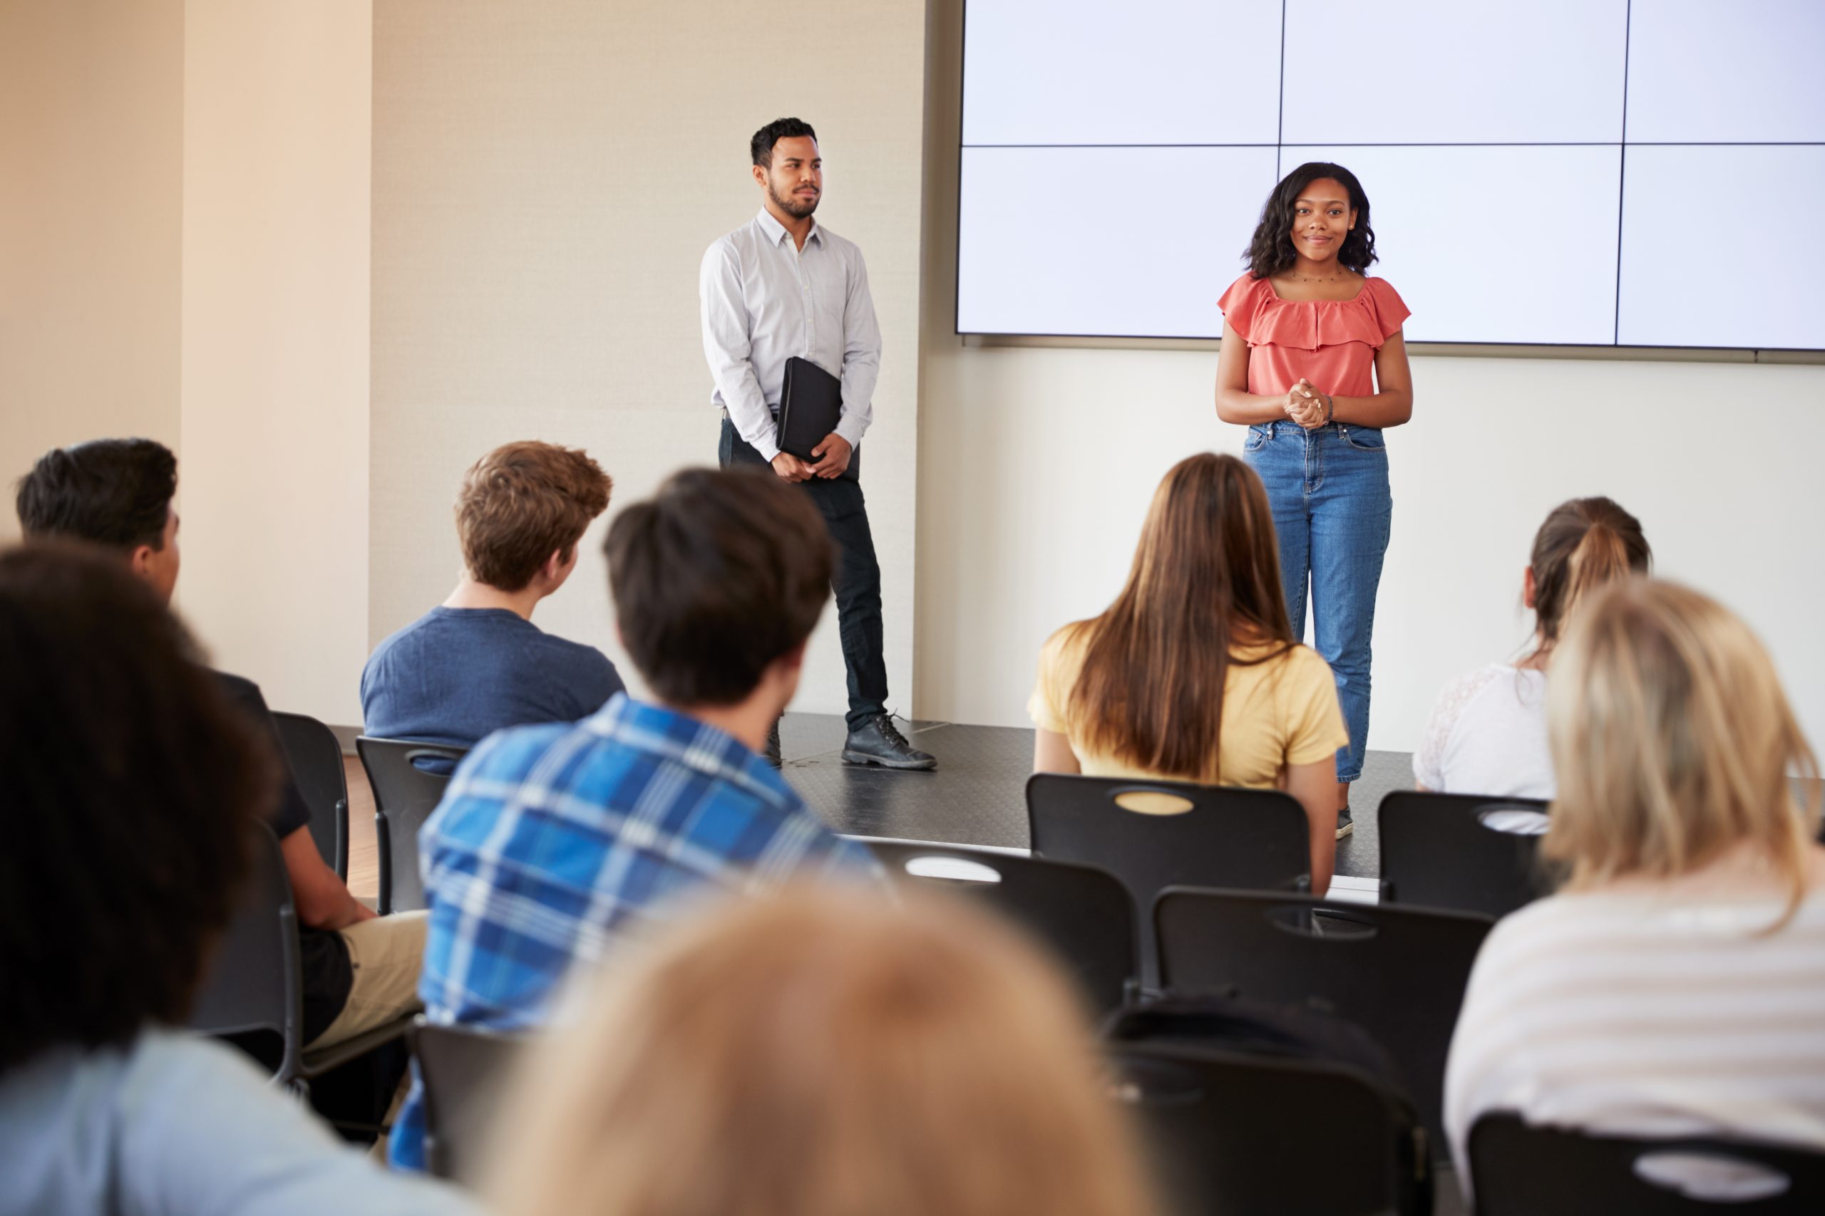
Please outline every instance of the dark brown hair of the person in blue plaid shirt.
M673 706L746 700L810 636L836 562L810 498L770 469L673 474L602 552L628 656Z

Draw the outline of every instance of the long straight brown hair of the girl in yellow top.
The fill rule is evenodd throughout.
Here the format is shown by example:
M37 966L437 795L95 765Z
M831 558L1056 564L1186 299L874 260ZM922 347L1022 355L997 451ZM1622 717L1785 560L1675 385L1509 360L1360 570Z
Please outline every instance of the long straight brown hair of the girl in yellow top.
M1128 585L1073 629L1084 665L1066 716L1084 744L1164 777L1217 784L1223 684L1298 644L1279 585L1274 512L1234 456L1181 459L1153 492ZM1267 653L1236 658L1236 645Z

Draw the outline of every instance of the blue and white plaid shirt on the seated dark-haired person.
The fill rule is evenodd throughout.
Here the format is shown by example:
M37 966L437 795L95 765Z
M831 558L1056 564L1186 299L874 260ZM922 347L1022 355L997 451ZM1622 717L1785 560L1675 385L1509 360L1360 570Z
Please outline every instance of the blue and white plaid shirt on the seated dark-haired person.
M672 895L763 893L805 871L885 881L735 738L620 693L580 722L482 740L418 833L418 859L425 1015L496 1030L542 1025L571 964L666 919ZM422 1170L423 1136L414 1065L392 1165Z

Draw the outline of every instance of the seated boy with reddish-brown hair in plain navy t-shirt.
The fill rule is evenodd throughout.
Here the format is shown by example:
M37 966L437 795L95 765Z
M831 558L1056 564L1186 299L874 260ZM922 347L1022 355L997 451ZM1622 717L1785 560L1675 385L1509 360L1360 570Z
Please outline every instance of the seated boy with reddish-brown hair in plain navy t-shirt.
M577 569L577 541L608 492L608 474L577 448L526 441L478 459L456 496L462 582L374 647L361 671L363 729L473 747L502 727L575 722L620 693L602 651L533 623L538 602Z

